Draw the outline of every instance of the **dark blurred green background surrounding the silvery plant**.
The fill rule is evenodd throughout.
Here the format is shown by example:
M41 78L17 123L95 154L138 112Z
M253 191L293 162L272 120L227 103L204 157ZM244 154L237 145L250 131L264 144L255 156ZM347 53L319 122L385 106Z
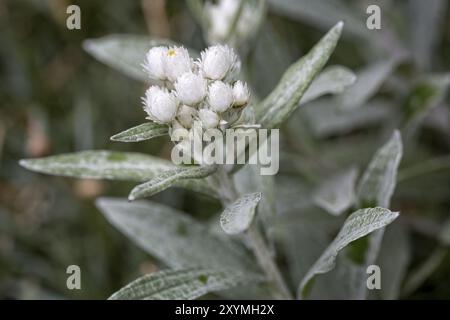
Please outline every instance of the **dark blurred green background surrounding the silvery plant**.
M422 73L448 72L450 68L450 6L443 6L445 11L435 20L439 26L428 29L437 39L431 55L416 55L419 49L409 38L411 24L420 18L408 16L408 2L380 2L383 17L386 15L390 21L386 34L391 38L385 38L384 51L372 50L367 40L345 36L329 63L357 70L370 61L388 58L392 51L404 46L412 53L413 62L399 66L396 75L378 93L399 106L408 101L409 91L404 87L409 79ZM72 3L81 8L81 30L66 28L66 8ZM370 1L344 3L365 19L363 8ZM284 70L327 29L322 23L314 23L314 18L296 19L282 10L272 10L274 7L269 5L260 32L240 48L245 56L246 76L260 97L270 92ZM97 62L83 50L85 39L113 33L171 38L198 50L206 46L202 30L185 1L0 1L2 299L104 299L137 276L158 268L94 207L96 197L123 197L132 184L50 177L18 165L22 158L87 149L132 150L168 157L166 138L139 144L109 140L111 135L142 122L140 97L146 89L142 83ZM398 40L400 44L396 39L402 39ZM421 147L407 149L406 166L449 154L449 105L447 97L428 115L431 120L427 119L414 136L413 145ZM283 176L297 171L305 173L308 166L314 167L314 154L320 154L325 162L366 163L381 141L368 137L382 130L372 123L317 139L308 132L293 131L288 123L281 140L286 153L297 157L282 161L277 179L284 183ZM299 138L299 134L304 135ZM338 151L331 154L334 149L346 146L353 148L347 150L350 158L339 158ZM409 152L412 149L414 152ZM331 168L333 165L334 162ZM409 239L413 248L409 271L437 250L434 233L450 214L449 181L448 171L439 172L399 184L397 188L399 196L394 199L394 209L407 211L414 218L408 222L412 225ZM200 217L208 217L218 209L218 204L181 190L167 190L156 200ZM450 298L450 257L447 249L442 252L431 275L404 298ZM81 267L82 290L66 287L66 268L71 264Z

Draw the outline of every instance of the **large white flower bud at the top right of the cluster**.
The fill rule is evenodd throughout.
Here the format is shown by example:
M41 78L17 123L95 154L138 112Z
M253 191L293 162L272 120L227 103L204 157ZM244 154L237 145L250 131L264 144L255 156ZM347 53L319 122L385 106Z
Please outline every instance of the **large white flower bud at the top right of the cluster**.
M208 79L233 78L240 66L239 58L228 46L212 46L201 53L200 68Z

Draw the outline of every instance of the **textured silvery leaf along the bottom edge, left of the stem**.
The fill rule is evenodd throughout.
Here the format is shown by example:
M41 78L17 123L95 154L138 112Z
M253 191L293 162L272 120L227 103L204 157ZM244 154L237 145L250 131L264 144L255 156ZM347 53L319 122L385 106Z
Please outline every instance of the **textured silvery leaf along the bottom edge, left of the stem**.
M109 300L193 300L210 292L260 280L235 270L163 270L134 280L114 293Z

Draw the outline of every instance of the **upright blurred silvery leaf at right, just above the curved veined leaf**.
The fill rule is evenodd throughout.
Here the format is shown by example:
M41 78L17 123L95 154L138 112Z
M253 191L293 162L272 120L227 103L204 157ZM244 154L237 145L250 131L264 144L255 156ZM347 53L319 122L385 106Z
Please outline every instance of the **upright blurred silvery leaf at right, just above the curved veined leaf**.
M402 154L400 133L395 131L389 141L376 152L359 181L357 188L359 207L389 206Z

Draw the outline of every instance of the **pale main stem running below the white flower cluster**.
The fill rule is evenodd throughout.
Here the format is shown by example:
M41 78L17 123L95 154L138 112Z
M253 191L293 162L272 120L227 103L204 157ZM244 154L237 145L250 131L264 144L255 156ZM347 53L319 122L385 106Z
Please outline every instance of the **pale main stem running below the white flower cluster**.
M219 168L218 171L222 186L222 202L225 206L238 198L238 192L234 181L230 178L229 174L222 168ZM274 289L274 296L277 299L292 300L293 296L289 291L256 222L253 222L252 226L247 230L245 237L258 260L261 269L266 274L271 288Z

